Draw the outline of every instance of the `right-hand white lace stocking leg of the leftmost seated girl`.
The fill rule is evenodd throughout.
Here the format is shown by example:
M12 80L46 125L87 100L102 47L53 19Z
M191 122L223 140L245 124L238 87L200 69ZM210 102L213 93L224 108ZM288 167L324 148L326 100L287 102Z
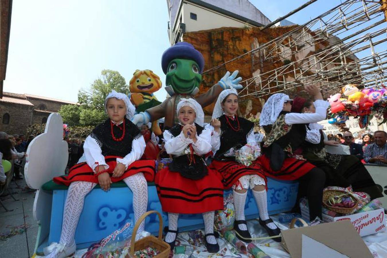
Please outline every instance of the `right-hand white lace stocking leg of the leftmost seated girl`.
M133 193L133 210L135 222L141 217L142 214L146 213L148 206L148 184L144 177L144 174L137 173L123 179L125 184L130 188ZM140 224L137 232L144 230L145 220Z

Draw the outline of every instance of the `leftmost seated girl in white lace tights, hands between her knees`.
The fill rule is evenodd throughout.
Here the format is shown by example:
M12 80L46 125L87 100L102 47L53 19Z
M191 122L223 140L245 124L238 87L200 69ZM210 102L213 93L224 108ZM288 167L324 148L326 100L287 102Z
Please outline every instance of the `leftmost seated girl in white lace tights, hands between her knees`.
M145 149L140 130L130 117L134 106L128 96L112 91L105 100L109 118L93 129L84 143L86 162L70 168L68 176L55 177L68 188L59 243L45 248L47 257L64 258L75 252L75 229L84 205L84 198L97 184L105 191L113 182L124 181L133 192L133 210L137 221L147 210L147 181L153 181L153 160L139 160ZM112 229L113 230L113 229ZM144 223L139 232L144 230Z

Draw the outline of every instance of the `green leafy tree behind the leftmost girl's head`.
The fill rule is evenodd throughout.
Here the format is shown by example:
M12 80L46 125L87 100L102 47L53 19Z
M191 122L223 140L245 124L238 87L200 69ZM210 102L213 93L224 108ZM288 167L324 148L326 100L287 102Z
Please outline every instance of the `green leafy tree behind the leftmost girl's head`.
M79 90L79 106L65 105L61 107L59 113L63 117L63 122L69 126L96 126L103 122L107 118L105 98L112 89L126 95L129 94L129 87L119 72L102 70L101 77L96 79L90 88Z

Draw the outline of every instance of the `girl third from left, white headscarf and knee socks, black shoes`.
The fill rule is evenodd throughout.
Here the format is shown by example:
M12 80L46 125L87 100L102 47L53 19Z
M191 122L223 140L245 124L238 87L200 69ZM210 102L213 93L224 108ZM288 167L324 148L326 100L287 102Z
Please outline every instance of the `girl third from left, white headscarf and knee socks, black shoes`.
M234 229L236 235L242 241L249 243L250 232L245 220L245 202L247 190L252 189L253 196L259 209L259 223L270 236L277 236L279 228L269 217L267 212L266 177L257 160L252 160L251 165L246 166L236 162L235 151L243 146L252 150L257 149L258 144L254 136L254 123L238 117L238 93L235 89L222 91L216 101L212 114L211 124L214 126L212 136L212 151L214 160L211 167L223 176L225 189L233 189L235 206ZM243 147L245 148L245 147ZM257 157L254 157L256 159ZM240 237L240 236L242 237ZM279 239L275 239L278 241Z

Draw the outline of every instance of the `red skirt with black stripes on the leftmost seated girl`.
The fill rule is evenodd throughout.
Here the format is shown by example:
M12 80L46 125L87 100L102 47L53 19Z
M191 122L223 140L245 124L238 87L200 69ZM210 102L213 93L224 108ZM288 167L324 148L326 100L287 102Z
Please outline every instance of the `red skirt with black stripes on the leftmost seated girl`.
M121 158L117 156L106 156L105 162L109 165L109 169L106 170L110 174L111 182L118 182L126 177L137 174L139 172L144 173L145 179L148 182L154 180L155 174L155 162L154 160L136 160L130 164L125 170L125 172L120 177L112 177L114 168L116 167L117 161L116 158ZM71 167L67 176L62 175L60 177L54 177L53 181L57 184L64 184L69 186L71 182L74 181L87 181L98 184L98 177L95 176L94 171L91 169L86 162L75 164Z

